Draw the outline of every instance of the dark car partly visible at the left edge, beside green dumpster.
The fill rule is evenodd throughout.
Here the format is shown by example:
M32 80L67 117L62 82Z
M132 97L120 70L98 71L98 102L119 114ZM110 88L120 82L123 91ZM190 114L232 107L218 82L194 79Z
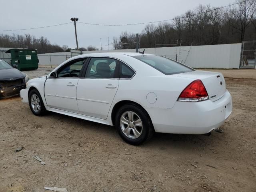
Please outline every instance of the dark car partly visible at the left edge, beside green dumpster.
M0 99L17 96L20 90L26 88L28 75L11 66L4 60L0 60Z

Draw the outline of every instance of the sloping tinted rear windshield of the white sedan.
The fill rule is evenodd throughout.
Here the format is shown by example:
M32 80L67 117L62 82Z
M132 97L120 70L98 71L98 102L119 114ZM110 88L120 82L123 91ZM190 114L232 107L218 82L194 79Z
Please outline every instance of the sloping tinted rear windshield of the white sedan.
M158 56L158 55L139 55L139 56L133 56L133 57L152 66L156 70L166 75L194 71L194 69L186 65L183 65L172 59Z

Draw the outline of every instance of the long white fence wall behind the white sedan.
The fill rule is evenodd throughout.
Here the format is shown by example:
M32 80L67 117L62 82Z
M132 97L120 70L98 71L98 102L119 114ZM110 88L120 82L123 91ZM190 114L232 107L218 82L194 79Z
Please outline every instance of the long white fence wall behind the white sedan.
M181 49L181 50L180 50ZM239 68L241 44L223 44L223 45L204 45L180 47L162 47L162 48L145 48L145 53L164 55L176 59L193 68ZM140 49L143 51L144 48ZM187 51L185 51L187 50ZM87 53L108 52L103 51L83 51ZM109 50L109 52L136 52L136 49ZM59 65L67 58L70 58L70 52L38 54L39 64L50 65L50 55L52 65ZM187 57L187 59L186 59ZM185 61L186 60L186 61Z

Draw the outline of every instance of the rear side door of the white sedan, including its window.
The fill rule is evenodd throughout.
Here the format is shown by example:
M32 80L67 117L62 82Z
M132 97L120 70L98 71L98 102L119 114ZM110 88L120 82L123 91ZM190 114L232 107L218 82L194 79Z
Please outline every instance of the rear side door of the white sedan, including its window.
M92 57L85 74L77 85L77 104L80 114L106 119L118 89L119 61L113 58Z

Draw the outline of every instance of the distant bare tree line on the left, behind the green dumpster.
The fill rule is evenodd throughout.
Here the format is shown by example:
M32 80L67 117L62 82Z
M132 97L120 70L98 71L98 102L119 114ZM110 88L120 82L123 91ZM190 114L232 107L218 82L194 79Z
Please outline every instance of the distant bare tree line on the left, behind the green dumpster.
M52 53L52 52L70 52L71 48L67 45L59 46L57 44L51 44L50 41L41 36L36 38L30 34L19 35L4 35L0 34L0 47L10 47L10 48L30 48L37 49L38 54L42 53ZM79 48L81 51L92 51L98 50L95 46L89 45L88 47Z

